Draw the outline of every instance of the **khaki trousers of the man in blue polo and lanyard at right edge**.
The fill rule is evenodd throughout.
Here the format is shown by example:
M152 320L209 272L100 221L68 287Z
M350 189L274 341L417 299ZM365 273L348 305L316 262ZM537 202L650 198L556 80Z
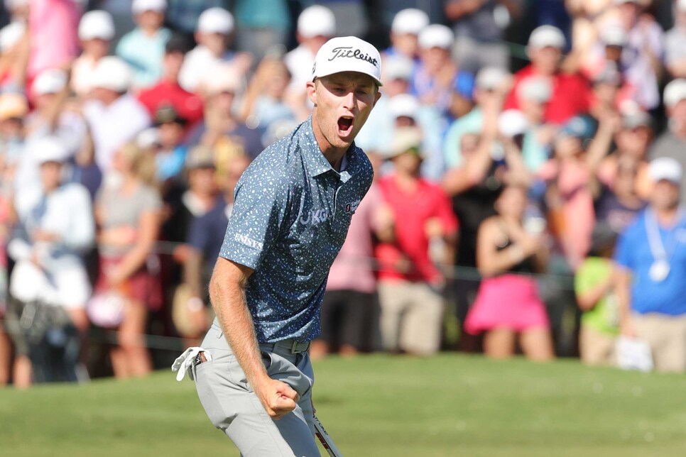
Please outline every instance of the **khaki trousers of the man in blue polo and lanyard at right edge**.
M686 315L634 313L633 324L653 352L655 370L686 372Z

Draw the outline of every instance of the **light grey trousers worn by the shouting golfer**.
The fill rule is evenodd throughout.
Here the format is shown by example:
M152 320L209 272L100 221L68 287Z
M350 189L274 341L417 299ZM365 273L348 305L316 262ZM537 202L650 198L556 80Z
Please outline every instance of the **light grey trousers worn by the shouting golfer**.
M229 436L241 455L320 456L312 422L314 373L307 352L293 353L285 342L260 346L269 377L285 382L300 395L293 412L275 421L248 384L216 323L207 332L202 348L212 354L212 360L194 367L197 395L209 420Z

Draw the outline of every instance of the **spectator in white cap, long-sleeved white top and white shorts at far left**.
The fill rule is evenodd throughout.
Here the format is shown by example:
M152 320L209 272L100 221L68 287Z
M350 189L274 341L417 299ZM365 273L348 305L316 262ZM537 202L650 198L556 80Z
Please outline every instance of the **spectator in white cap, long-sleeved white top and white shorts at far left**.
M95 240L92 204L86 189L78 184L62 183L62 164L69 151L57 138L43 138L35 147L40 185L24 188L16 195L18 229L8 245L8 253L16 262L10 280L10 292L15 300L10 314L17 353L14 375L17 387L31 384L28 356L30 343L36 343L28 339L28 329L23 327L26 324L20 321L24 307L38 302L62 309L68 316L66 321L71 321L80 334L87 330L85 305L91 287L82 253ZM50 321L48 325L54 324ZM41 330L47 332L48 328ZM74 368L78 353L78 350L67 351L63 363ZM47 360L36 360L35 352L31 356L36 362L34 368L40 372L38 378L50 379ZM77 380L77 374L72 370L70 375L55 380Z

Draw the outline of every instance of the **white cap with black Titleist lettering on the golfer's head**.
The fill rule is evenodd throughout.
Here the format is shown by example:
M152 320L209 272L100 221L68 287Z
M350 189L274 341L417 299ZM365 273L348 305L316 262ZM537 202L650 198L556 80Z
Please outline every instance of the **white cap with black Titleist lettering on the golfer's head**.
M354 36L331 38L315 57L312 80L340 72L359 72L381 83L381 55L373 45Z

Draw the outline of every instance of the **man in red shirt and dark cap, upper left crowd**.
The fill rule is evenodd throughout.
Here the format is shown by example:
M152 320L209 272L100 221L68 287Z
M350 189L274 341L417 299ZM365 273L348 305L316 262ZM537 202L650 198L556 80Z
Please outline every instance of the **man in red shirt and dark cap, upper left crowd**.
M189 126L202 119L202 100L196 94L187 92L179 85L179 72L185 54L190 50L187 40L180 35L172 36L165 45L164 74L162 79L149 89L138 94L138 100L155 116L160 106L173 106Z

